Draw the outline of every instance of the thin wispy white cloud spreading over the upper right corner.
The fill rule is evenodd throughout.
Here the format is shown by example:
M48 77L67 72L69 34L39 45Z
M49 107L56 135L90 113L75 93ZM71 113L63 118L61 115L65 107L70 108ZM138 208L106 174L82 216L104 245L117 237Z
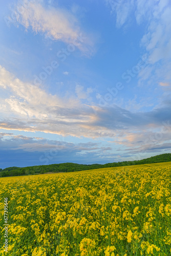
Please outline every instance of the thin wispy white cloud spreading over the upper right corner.
M148 57L148 66L138 74L139 84L170 81L171 68L171 6L169 0L106 0L111 13L116 16L116 27L131 26L135 18L137 25L143 25L144 34L140 47ZM145 81L147 80L148 81ZM144 83L145 81L145 83Z

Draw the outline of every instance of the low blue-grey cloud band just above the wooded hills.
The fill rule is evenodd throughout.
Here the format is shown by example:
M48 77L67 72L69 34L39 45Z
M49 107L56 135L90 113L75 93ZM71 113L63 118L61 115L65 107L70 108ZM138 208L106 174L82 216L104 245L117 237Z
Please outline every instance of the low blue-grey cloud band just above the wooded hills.
M171 129L171 125L170 125ZM161 131L160 131L161 132ZM123 160L139 160L156 153L170 151L170 131L163 130L162 143L159 133L120 133L122 148L113 153L109 143L99 142L71 143L60 140L48 140L39 137L27 137L12 133L0 133L1 168L9 166L32 166L61 162L107 163ZM168 137L169 135L169 137ZM116 143L116 140L114 141ZM67 160L66 160L67 159ZM91 159L91 162L89 162Z

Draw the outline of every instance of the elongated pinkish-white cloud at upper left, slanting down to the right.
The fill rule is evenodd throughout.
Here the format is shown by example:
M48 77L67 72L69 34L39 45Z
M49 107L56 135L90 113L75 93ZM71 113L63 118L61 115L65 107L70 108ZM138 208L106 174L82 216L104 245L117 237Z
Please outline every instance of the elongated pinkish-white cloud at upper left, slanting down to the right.
M44 6L44 1L18 1L13 13L16 24L32 29L35 33L44 33L52 40L74 44L84 53L92 54L94 42L81 31L77 18L68 10Z

